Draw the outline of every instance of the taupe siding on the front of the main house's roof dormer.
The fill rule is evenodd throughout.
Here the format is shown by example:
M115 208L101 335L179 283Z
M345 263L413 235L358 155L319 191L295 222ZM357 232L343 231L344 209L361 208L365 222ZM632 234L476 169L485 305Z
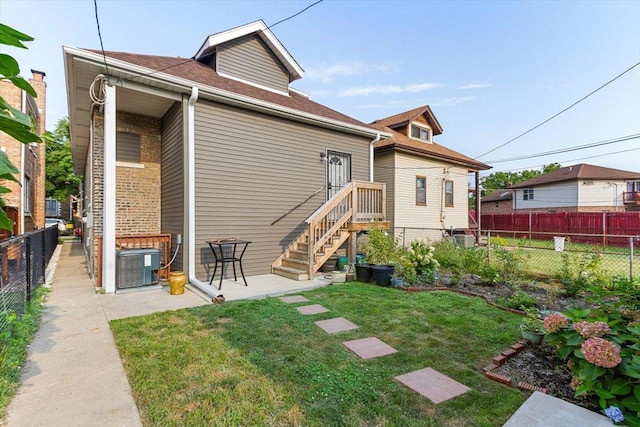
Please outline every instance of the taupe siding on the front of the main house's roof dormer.
M231 40L218 48L219 73L288 93L289 73L256 35Z

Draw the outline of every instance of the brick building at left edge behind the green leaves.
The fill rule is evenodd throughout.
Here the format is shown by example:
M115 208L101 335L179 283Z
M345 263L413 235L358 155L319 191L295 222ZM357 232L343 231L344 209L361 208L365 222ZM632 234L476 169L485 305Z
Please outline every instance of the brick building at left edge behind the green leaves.
M30 115L36 126L36 133L45 131L45 101L47 85L45 73L31 70L29 83L38 95L32 97L9 81L0 81L0 96L13 108ZM3 194L6 206L3 208L14 222L12 232L0 230L0 239L23 234L44 227L45 198L45 146L44 144L23 144L4 132L0 132L0 150L7 153L9 161L18 168L16 178L20 184L4 181L2 185L11 190Z

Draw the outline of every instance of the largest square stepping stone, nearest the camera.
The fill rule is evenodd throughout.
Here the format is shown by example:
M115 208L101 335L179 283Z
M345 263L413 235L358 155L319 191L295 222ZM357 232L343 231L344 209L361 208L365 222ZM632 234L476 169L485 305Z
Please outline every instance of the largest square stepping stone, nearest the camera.
M432 368L420 369L395 378L433 403L444 402L471 390L466 385L460 384Z

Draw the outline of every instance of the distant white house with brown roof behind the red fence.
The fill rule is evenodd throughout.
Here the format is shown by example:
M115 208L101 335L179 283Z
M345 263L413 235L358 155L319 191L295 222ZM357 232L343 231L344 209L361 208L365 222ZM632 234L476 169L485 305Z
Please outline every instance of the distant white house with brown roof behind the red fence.
M510 189L515 212L640 210L639 172L578 164L539 175Z

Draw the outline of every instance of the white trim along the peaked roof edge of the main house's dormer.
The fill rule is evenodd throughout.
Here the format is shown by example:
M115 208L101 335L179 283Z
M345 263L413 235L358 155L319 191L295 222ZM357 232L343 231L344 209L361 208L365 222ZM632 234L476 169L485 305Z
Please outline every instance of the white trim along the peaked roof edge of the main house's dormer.
M204 41L204 43L198 50L198 53L195 54L194 58L198 60L204 54L209 53L215 46L226 43L230 40L244 37L252 33L257 33L260 38L262 38L262 40L273 50L273 53L275 53L278 59L282 61L284 66L289 71L289 74L292 75L292 80L302 78L302 76L304 75L304 70L302 69L302 67L300 67L293 56L291 56L291 54L287 51L287 49L285 49L282 43L280 43L280 40L278 40L278 38L271 32L271 30L261 19L249 24L242 25L240 27L223 31L221 33L210 35Z

